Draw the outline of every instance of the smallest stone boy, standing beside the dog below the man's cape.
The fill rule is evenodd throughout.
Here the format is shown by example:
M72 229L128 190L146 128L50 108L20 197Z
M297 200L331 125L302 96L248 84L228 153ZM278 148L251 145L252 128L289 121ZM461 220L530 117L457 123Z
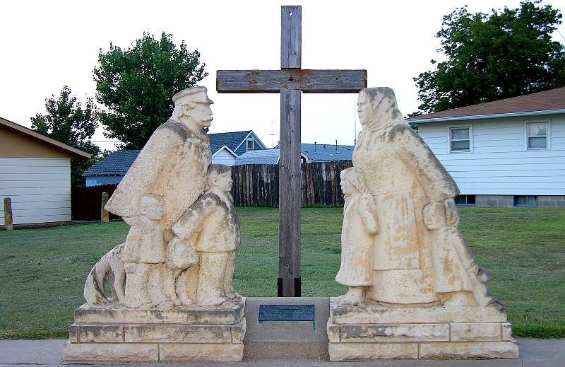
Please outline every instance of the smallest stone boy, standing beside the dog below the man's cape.
M126 270L126 307L172 306L160 286L165 262L165 235L159 226L163 204L160 195L145 194L138 202L141 215L126 219L131 226L122 255Z

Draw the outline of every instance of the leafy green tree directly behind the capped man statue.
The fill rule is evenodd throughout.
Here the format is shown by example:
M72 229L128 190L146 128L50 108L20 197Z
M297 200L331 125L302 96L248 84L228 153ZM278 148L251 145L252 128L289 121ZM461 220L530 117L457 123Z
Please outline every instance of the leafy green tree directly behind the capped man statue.
M127 50L112 44L108 52L100 49L94 81L97 102L106 107L99 114L105 136L119 139L121 149L143 148L170 117L172 95L208 75L198 57L197 50L190 52L184 41L177 48L165 33L160 40L143 33Z

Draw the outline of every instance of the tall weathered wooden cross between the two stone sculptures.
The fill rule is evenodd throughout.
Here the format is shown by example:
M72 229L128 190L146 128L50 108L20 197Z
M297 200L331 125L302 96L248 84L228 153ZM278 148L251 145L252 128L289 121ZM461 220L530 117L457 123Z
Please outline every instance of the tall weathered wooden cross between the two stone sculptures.
M358 93L367 70L304 70L302 7L281 7L280 70L218 70L218 93L280 93L278 296L299 297L300 99L304 93Z

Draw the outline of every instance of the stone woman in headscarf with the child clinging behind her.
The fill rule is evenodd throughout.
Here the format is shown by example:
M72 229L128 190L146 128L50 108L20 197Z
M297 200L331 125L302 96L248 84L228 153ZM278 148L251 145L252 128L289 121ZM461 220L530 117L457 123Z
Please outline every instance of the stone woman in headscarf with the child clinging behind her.
M353 164L376 204L367 298L391 304L487 305L487 275L458 226L456 183L404 121L390 88L366 88L357 102L362 132Z

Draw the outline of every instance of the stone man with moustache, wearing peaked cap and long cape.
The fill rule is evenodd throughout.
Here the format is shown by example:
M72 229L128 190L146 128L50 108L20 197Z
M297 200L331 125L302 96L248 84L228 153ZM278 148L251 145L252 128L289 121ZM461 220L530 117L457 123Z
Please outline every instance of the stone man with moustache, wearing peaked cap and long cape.
M203 129L213 120L213 102L205 87L185 89L172 99L172 116L151 135L106 204L130 226L148 232L151 225L136 204L145 194L160 195L164 200L160 226L167 242L171 226L205 190L210 141Z

